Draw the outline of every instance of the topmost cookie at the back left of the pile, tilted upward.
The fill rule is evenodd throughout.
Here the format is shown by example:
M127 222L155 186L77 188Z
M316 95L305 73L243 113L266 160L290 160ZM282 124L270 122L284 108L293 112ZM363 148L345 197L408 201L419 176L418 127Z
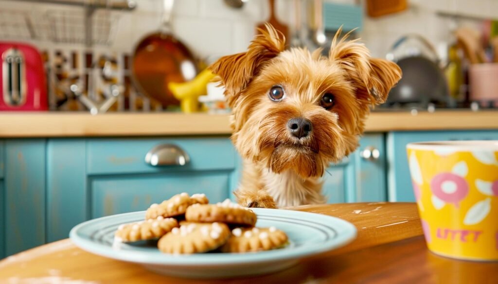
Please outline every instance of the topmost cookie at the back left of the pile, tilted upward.
M188 193L182 192L176 194L168 200L162 201L160 204L154 203L145 212L145 219L154 219L158 216L174 217L182 215L187 210L187 207L192 204L207 204L208 198L204 193L193 194L189 196Z

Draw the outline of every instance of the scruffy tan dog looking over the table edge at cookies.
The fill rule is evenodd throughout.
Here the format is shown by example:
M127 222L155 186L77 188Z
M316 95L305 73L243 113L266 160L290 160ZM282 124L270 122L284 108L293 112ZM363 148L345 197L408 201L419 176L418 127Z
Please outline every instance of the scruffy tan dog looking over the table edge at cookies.
M393 62L370 56L358 40L322 49L285 50L270 24L243 53L209 69L232 108L231 137L243 158L234 194L247 207L278 208L326 201L321 177L330 163L355 151L373 105L401 78Z

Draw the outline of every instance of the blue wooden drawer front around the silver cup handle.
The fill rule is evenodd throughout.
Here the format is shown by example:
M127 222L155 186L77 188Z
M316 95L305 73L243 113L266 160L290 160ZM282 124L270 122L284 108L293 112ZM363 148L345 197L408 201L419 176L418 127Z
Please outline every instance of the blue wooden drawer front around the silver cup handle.
M173 144L190 157L183 166L150 166L145 155L155 146ZM224 170L235 167L235 149L228 137L175 139L93 139L87 141L87 173L129 174Z

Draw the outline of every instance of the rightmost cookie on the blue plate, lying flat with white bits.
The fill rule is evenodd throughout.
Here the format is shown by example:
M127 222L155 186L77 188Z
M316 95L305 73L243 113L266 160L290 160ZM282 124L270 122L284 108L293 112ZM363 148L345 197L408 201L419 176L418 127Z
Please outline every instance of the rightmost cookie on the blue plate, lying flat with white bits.
M288 243L287 235L275 227L235 228L227 243L221 247L224 253L245 253L277 249Z

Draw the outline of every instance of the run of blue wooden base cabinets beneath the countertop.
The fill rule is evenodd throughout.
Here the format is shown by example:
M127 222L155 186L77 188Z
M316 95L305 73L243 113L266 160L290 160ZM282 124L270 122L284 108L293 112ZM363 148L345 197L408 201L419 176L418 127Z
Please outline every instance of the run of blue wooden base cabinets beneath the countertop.
M327 168L327 202L413 201L405 146L429 140L498 139L498 131L367 133ZM151 166L146 153L173 144L185 165ZM78 223L144 210L178 192L230 197L242 161L228 136L49 138L0 141L0 258L66 238ZM6 245L8 244L8 245Z

